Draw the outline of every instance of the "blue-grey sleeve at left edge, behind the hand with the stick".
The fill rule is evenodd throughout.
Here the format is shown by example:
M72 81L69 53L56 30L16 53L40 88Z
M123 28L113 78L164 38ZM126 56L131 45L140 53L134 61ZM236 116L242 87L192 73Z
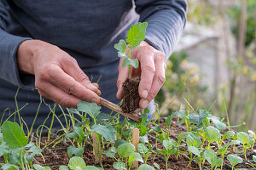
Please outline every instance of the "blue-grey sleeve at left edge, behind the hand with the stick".
M33 88L33 81L26 81L27 77L19 74L16 62L16 52L20 43L31 38L18 37L5 31L9 20L8 7L0 1L0 78L20 88Z

